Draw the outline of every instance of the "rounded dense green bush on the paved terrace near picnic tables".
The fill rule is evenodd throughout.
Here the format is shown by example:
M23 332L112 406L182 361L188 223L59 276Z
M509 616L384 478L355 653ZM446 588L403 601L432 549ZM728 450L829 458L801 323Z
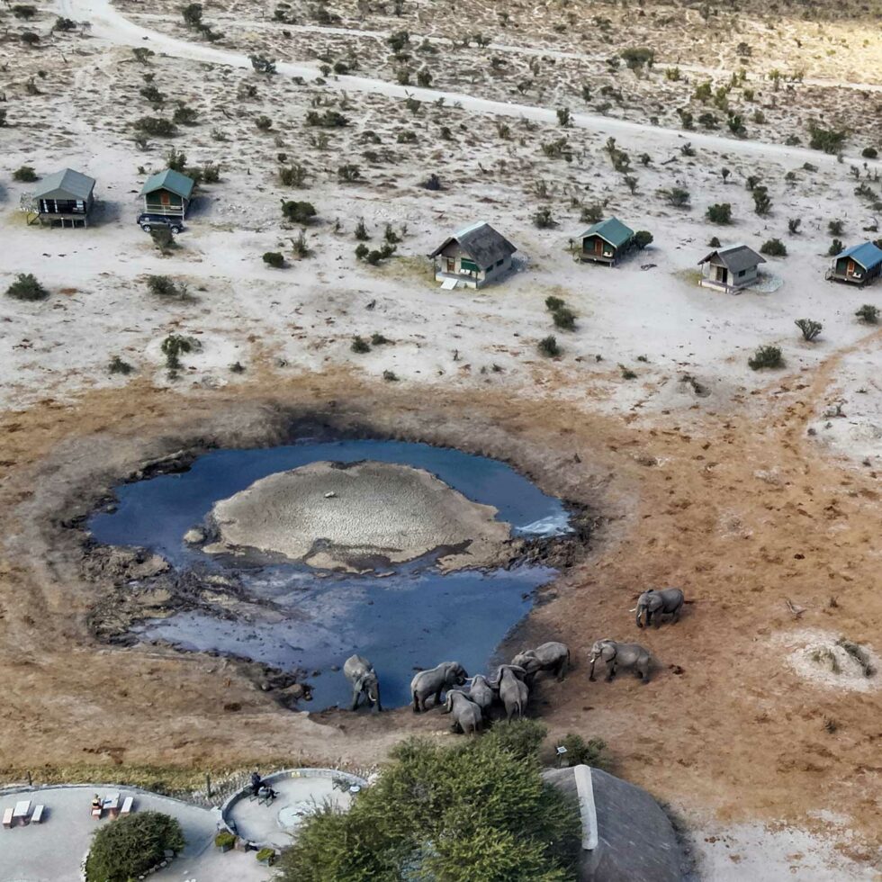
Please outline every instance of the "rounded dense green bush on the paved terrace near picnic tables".
M182 851L184 833L176 818L159 812L126 815L99 827L85 859L87 882L126 882Z

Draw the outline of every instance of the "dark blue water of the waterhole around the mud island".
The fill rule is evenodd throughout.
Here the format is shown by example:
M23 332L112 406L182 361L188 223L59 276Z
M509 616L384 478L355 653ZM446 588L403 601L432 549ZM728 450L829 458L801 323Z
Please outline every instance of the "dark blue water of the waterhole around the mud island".
M180 570L194 564L228 570L184 544L182 536L202 524L218 500L244 490L268 474L330 460L363 459L408 464L436 474L469 499L499 509L498 518L516 533L547 535L567 530L561 500L545 495L508 465L445 447L398 441L302 442L202 455L189 471L123 484L119 505L94 515L94 538L107 545L138 545L162 554ZM529 611L531 592L554 570L518 566L491 572L444 575L430 559L392 568L391 574L317 572L301 564L238 570L254 599L247 617L219 619L179 613L134 630L144 639L164 639L183 649L247 656L284 670L319 670L308 677L313 701L305 709L347 705L342 667L352 653L370 659L380 674L384 707L410 700L414 668L458 661L470 674L485 670L493 651Z

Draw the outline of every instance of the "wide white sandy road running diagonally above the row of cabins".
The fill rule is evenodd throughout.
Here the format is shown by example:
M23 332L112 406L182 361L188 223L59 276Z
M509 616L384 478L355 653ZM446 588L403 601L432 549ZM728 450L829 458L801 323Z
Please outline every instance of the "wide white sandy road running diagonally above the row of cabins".
M119 10L115 9L111 0L58 0L58 11L75 21L91 23L92 33L123 46L147 46L158 52L165 52L174 58L190 58L208 64L220 64L229 67L250 69L251 62L247 55L225 49L215 49L208 45L178 40L158 31L150 31L139 24L131 22ZM276 64L277 73L282 76L299 76L311 81L320 77L320 71L309 65L297 65L280 61ZM442 92L437 89L412 88L410 86L388 83L385 80L371 79L365 76L338 76L334 79L335 87L347 92L383 94L390 98L414 97L423 102L444 101L462 107L463 110L475 113L489 113L495 116L522 117L536 122L556 124L557 112L554 108L536 107L530 104L508 103L478 98L473 95L456 92ZM777 159L792 165L801 165L812 161L815 165L829 166L835 163L836 157L827 156L816 150L787 147L782 144L765 144L760 141L737 140L707 134L706 132L663 129L639 122L617 120L607 116L590 113L573 113L572 125L583 129L594 130L600 135L626 137L635 148L660 147L676 149L684 138L688 138L696 147L710 148L743 157L765 157ZM882 163L871 163L882 166Z

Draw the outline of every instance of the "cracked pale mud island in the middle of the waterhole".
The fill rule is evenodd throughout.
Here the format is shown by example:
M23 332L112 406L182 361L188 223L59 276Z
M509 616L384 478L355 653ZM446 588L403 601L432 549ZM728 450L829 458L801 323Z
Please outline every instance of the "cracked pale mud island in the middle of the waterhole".
M456 548L438 558L443 570L455 570L500 561L511 529L496 513L423 469L367 462L270 475L215 503L211 517L221 548L257 548L321 568L403 563Z

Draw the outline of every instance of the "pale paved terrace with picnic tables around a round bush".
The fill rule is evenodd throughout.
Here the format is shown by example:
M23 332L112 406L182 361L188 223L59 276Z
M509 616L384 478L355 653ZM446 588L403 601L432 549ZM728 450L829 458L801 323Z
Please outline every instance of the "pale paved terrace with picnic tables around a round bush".
M134 797L134 812L152 810L172 815L184 829L186 848L166 869L150 876L151 880L265 882L271 878L273 870L258 864L254 851L221 854L214 847L220 823L216 810L137 788L75 786L0 790L0 813L23 799L31 800L31 811L34 806L45 806L41 824L16 823L12 829L0 828L0 882L81 882L80 866L89 851L92 833L109 823L106 813L101 821L92 818L92 797L95 793L106 797L116 792L121 800ZM281 801L276 808L280 806Z

